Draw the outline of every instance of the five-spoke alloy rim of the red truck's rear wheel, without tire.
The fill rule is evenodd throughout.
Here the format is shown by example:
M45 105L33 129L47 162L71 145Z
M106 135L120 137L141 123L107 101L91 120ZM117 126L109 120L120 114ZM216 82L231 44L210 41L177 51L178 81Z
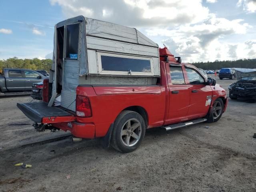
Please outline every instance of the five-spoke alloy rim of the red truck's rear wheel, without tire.
M129 119L122 127L121 140L125 146L134 146L140 140L142 127L137 119Z

